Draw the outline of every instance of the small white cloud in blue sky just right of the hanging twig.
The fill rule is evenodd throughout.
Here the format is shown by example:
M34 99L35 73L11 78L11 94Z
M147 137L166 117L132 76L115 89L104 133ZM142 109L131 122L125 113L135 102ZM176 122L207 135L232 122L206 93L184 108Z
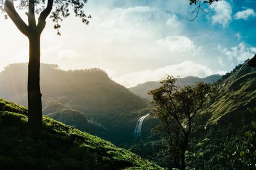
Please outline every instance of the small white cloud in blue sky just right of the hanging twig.
M211 8L214 9L215 15L212 18L212 24L220 24L226 27L230 20L232 20L232 8L227 1L220 1L213 3Z

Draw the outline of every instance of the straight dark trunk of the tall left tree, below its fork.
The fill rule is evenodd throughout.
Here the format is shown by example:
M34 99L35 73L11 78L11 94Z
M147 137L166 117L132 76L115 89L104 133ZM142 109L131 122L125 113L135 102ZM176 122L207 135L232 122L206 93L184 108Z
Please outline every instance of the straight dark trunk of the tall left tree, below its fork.
M29 36L28 62L28 120L29 128L42 130L42 94L40 92L40 34Z

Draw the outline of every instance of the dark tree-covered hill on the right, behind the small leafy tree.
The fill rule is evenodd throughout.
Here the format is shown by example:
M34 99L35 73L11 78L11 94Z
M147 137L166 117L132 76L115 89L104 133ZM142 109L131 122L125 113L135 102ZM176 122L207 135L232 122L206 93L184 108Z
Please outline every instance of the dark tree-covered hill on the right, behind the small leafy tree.
M208 97L204 108L193 122L195 126L189 141L189 152L186 153L188 167L240 169L239 166L245 162L242 159L239 162L237 158L243 157L244 152L251 156L255 153L254 145L250 150L238 150L240 143L246 143L248 135L250 138L255 133L251 124L256 120L255 103L256 69L248 66L246 62L216 81L213 94ZM156 119L148 117L143 124L145 126L142 126L141 140L131 147L132 152L154 160L163 167L172 167L173 162L164 153L167 150L166 141L159 138L161 134L150 134L152 127L157 124ZM255 156L254 159L246 161L246 164L252 164Z

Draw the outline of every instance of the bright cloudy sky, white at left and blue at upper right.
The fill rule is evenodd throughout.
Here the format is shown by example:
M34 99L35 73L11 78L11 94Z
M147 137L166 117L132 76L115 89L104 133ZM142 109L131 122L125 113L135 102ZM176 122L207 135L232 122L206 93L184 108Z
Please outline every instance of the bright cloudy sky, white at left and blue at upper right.
M65 70L99 67L127 88L166 74L225 74L256 53L253 1L204 4L208 15L201 11L191 22L195 6L188 0L88 0L89 25L72 15L57 36L47 19L41 62ZM28 39L0 13L0 71L17 62L28 62Z

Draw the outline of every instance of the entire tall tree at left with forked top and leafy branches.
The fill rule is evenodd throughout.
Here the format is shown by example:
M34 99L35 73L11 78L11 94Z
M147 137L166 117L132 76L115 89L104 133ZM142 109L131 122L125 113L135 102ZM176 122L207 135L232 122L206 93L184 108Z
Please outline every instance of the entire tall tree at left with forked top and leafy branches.
M87 0L20 0L17 7L26 10L28 24L17 13L13 0L0 0L0 10L6 12L22 34L29 40L28 62L28 118L29 127L33 131L42 129L42 94L40 92L40 36L44 31L46 18L50 15L54 22L54 29L60 34L60 22L70 15L70 10L76 17L81 18L84 24L88 24L90 15L84 13L84 5ZM53 10L52 10L53 9ZM4 16L6 18L7 15ZM38 20L36 22L36 15Z

